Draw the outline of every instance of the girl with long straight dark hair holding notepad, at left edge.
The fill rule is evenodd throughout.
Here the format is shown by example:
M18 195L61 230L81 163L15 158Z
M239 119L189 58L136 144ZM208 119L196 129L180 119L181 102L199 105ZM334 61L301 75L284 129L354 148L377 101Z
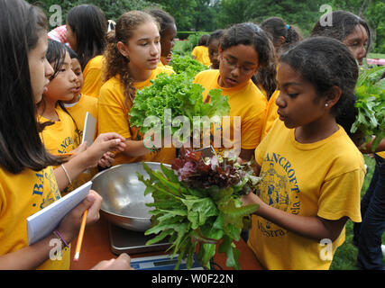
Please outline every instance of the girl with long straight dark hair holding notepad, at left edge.
M68 162L47 152L39 137L42 127L36 122L35 106L53 75L45 58L46 17L23 0L3 0L0 18L5 21L0 26L0 67L8 67L7 73L0 74L0 101L4 103L0 105L0 269L69 269L69 243L77 236L81 215L88 210L87 225L95 222L101 197L91 191L61 220L55 233L30 246L26 218L58 200L69 177L95 165L105 151L124 145L121 137L108 134ZM50 257L52 244L58 247L58 241L63 247L61 259ZM124 263L128 268L129 261Z

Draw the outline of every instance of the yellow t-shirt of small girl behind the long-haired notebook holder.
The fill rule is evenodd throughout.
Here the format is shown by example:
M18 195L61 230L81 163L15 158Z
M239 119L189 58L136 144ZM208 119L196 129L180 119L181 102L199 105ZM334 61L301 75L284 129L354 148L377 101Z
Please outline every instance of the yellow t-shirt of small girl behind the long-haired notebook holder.
M60 107L56 109L59 121L47 126L40 133L41 141L45 148L53 155L65 154L71 152L78 147L77 127L71 116L64 112ZM50 121L42 116L38 117L38 121Z

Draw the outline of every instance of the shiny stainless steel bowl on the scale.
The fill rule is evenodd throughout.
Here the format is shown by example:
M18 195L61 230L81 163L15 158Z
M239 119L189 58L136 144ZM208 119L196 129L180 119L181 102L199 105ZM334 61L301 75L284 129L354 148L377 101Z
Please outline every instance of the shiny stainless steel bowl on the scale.
M152 170L160 170L160 163L146 162ZM170 165L164 164L170 167ZM145 231L151 226L151 207L145 203L153 202L151 194L144 196L146 189L136 172L149 178L142 162L113 166L96 174L92 187L103 197L101 212L111 223L134 231Z

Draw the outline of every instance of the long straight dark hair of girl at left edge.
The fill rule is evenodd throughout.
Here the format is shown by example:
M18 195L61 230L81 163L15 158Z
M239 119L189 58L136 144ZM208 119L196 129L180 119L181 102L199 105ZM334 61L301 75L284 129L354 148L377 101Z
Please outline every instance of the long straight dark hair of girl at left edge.
M23 0L0 1L0 166L19 174L24 168L41 171L60 165L39 136L42 127L32 92L28 53L47 34L41 9Z

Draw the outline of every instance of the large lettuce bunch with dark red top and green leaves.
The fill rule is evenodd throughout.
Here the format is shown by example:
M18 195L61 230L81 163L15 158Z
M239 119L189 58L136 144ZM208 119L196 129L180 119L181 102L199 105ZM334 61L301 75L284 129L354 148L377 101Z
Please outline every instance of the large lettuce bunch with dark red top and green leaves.
M253 175L251 163L239 165L215 156L203 159L201 152L182 148L172 169L160 165L161 171L152 171L145 163L143 166L150 179L138 177L146 185L145 194L151 193L154 199L147 205L155 208L150 211L152 226L145 235L157 234L147 244L169 237L172 257L179 254L176 269L185 258L190 268L197 249L198 261L209 269L219 245L226 266L240 269L240 251L234 241L240 239L244 217L259 207L243 206L240 201L260 181Z

